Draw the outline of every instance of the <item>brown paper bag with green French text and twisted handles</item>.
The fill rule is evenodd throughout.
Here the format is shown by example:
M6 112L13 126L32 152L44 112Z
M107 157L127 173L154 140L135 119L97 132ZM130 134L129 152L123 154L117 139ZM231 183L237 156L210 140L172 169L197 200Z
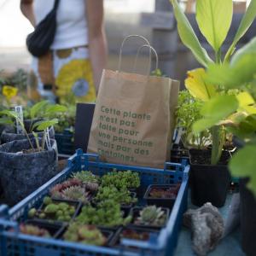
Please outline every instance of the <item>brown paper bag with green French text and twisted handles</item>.
M88 152L111 163L163 168L177 91L169 78L103 70Z

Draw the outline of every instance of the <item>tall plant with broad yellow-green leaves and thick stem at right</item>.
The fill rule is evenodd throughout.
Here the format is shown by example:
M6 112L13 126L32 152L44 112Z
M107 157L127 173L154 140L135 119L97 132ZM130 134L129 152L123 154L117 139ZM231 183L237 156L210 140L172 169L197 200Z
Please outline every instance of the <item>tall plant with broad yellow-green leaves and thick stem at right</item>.
M241 88L230 90L230 88L224 86L224 77L222 79L207 79L205 68L212 67L212 69L218 69L218 67L223 67L225 68L225 72L229 72L226 74L232 76L232 72L228 68L228 63L235 62L233 65L238 70L242 67L242 61L248 61L249 57L247 56L245 60L241 56L240 51L237 51L231 62L230 59L235 52L236 44L253 23L256 16L256 0L252 0L249 4L246 13L241 19L233 43L230 44L230 48L226 53L222 52L222 45L230 30L233 16L232 0L196 1L195 18L197 25L204 37L207 38L208 44L212 46L215 55L214 60L207 54L207 50L201 46L199 39L196 37L189 20L184 15L177 0L170 1L177 20L177 30L183 44L191 50L196 60L203 66L188 72L188 79L185 80L185 85L192 96L203 102L201 108L203 118L195 122L193 130L194 132L201 132L210 129L212 135L211 163L212 165L216 165L222 153L226 134L225 127L230 120L229 117L232 116L234 119L241 118L241 113L236 113L236 110L242 108L241 105L244 105L244 108L248 108L248 106L246 100L244 100L245 95L242 94L244 91ZM241 61L238 61L239 59ZM243 69L245 70L245 68ZM250 70L246 69L245 71L247 71L247 76L250 77ZM236 71L233 72L236 73ZM242 75L239 79L240 82L244 82ZM237 83L241 84L238 81ZM219 122L219 120L222 120L222 122Z

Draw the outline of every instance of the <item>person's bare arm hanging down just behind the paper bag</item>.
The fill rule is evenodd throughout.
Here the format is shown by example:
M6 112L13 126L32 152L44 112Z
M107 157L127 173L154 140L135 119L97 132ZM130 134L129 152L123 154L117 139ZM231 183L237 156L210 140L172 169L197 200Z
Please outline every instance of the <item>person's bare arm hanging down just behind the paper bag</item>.
M96 91L99 88L102 69L107 61L106 37L103 25L103 1L84 0L88 23L89 53Z

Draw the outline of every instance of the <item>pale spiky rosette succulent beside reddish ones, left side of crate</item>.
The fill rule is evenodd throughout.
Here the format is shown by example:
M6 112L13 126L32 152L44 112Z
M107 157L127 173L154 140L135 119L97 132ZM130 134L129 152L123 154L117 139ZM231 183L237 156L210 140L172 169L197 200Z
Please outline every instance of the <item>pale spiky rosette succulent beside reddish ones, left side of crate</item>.
M61 199L65 200L79 200L84 204L89 202L90 194L86 192L83 187L71 186L61 191Z

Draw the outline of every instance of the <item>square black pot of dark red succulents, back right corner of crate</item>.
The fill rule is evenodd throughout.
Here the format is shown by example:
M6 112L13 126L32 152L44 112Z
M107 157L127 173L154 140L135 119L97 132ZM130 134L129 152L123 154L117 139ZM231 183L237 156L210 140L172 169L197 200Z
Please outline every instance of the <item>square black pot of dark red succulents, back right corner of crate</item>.
M170 197L153 197L150 195L150 192L152 189L174 189L176 190L175 195L171 195ZM148 205L155 205L156 207L166 207L169 209L172 209L173 204L176 200L177 197L177 192L179 189L179 184L168 184L168 185L158 185L158 184L153 184L149 185L147 191L145 192L145 195L143 197L144 200L147 201Z

